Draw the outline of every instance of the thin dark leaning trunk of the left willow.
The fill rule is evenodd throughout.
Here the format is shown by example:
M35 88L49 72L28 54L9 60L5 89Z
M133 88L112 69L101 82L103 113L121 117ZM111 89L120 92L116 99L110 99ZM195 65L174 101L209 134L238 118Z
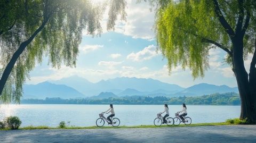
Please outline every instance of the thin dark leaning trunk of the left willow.
M18 60L19 56L22 54L22 52L25 50L25 48L28 46L28 44L31 43L31 41L36 37L36 35L44 28L45 24L49 20L50 17L47 17L41 24L41 26L31 35L28 40L23 41L17 51L13 54L10 62L7 64L7 66L4 69L4 72L2 74L1 80L0 80L0 96L2 94L2 91L4 89L5 83L13 69L13 66L15 65L16 61Z

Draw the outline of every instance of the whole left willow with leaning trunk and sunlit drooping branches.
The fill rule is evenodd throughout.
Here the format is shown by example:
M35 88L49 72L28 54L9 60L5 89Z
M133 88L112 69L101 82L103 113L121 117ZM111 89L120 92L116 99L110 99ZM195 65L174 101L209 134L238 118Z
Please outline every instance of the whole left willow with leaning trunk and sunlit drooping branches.
M44 56L54 68L76 65L82 32L100 35L100 20L109 4L108 29L117 15L125 19L125 1L95 5L87 0L0 1L0 102L19 103L22 84Z

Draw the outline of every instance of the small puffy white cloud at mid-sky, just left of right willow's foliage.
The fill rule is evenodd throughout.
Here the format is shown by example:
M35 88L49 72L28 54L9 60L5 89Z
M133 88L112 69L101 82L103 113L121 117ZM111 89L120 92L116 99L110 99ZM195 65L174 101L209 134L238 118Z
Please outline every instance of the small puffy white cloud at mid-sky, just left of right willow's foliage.
M144 61L150 60L151 58L159 55L156 53L156 47L154 45L149 45L148 47L142 49L137 53L132 52L131 54L127 55L127 59L132 61Z

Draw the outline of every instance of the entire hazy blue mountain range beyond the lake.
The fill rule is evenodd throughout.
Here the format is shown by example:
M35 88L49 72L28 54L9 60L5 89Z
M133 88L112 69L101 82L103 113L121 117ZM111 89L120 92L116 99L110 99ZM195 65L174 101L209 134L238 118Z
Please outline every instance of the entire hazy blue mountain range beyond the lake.
M238 88L200 83L188 88L144 78L115 78L92 83L84 78L72 76L37 85L24 85L23 98L108 98L118 96L200 96L214 93L238 92Z

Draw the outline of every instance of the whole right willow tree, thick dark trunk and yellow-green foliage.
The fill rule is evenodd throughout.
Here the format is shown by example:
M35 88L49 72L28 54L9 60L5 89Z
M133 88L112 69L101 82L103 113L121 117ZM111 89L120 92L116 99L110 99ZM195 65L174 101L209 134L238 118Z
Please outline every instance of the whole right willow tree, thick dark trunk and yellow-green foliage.
M158 6L156 39L168 67L188 67L194 78L209 68L209 49L226 52L241 97L241 119L256 122L256 2L180 0ZM251 54L250 73L244 61ZM233 73L230 73L233 74Z

